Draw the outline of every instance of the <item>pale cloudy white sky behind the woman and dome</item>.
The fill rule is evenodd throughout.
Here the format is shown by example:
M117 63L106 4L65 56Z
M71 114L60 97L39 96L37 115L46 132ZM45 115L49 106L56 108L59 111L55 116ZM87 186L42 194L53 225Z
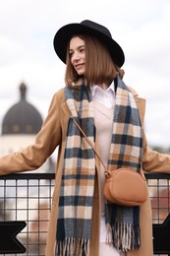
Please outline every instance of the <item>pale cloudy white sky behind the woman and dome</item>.
M0 0L0 127L23 82L45 118L53 94L65 86L53 37L84 20L107 27L123 48L124 82L146 99L148 144L169 148L169 0Z

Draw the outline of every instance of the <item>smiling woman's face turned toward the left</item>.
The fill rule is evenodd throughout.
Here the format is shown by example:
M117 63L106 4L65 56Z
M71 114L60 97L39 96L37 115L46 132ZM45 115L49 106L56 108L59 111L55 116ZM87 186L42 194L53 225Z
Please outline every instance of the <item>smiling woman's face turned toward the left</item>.
M79 36L74 36L70 40L70 59L78 75L85 75L85 41Z

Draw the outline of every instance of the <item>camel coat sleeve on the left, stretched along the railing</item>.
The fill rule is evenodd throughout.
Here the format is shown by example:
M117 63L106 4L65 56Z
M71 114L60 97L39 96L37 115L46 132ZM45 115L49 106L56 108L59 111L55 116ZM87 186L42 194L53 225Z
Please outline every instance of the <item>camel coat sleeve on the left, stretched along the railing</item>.
M38 168L61 142L60 104L58 94L51 100L47 117L34 143L22 152L0 158L0 175Z

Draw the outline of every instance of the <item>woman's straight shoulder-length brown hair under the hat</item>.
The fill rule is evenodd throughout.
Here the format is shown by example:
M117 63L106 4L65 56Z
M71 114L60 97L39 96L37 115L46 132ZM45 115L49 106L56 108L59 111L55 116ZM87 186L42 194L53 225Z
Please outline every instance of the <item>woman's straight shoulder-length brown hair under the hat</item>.
M105 45L100 42L96 37L88 34L77 34L73 35L79 36L85 40L85 85L99 85L102 83L111 83L116 75L119 73L121 77L124 75L124 71L117 67ZM69 46L67 47L67 62L66 62L66 75L65 82L69 87L73 87L81 76L78 75L74 69L70 54Z

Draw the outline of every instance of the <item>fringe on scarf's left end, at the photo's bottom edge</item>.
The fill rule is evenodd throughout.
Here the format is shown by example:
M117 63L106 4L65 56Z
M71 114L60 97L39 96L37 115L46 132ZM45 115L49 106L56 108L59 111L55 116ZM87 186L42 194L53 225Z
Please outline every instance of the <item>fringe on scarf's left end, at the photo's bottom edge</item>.
M87 256L89 251L89 239L66 238L56 241L55 256Z

